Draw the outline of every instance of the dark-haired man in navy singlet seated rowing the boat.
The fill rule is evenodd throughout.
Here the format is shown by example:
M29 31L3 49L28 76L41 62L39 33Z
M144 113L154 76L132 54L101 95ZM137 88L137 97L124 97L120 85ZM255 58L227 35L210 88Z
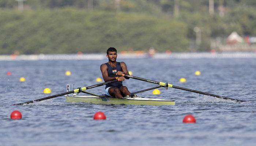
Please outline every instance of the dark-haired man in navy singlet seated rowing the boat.
M129 75L127 66L124 62L117 62L117 50L114 47L110 47L107 50L107 58L109 62L101 65L101 73L104 81L118 80L118 82L112 82L106 84L105 93L110 97L123 98L129 94L128 88L123 86L123 81L129 79L128 77L121 76L122 74Z

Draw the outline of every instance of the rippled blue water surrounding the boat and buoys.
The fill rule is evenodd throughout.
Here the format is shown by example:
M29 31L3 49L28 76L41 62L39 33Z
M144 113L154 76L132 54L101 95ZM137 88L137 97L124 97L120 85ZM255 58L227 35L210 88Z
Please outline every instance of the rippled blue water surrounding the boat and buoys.
M256 143L256 59L122 59L133 76L246 100L230 100L199 95L179 89L160 89L139 96L171 99L174 106L71 104L64 97L32 105L11 104L39 99L44 88L52 94L97 84L101 77L97 61L0 61L0 145L1 146L130 146L130 145L246 145ZM65 76L70 70L71 76ZM201 71L195 76L196 70ZM12 76L7 76L7 71ZM19 82L25 77L26 82ZM185 77L187 82L180 83ZM124 81L131 92L154 84L130 79ZM102 94L104 87L90 89ZM14 110L22 120L11 120ZM107 120L93 120L97 111ZM184 124L193 114L196 124Z

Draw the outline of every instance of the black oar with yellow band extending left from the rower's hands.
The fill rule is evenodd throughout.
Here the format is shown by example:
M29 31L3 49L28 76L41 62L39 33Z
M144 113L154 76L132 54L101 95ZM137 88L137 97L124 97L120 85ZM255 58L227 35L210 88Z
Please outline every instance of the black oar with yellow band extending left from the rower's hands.
M100 84L91 85L91 86L88 86L88 87L82 87L82 88L78 88L78 89L75 89L75 90L72 90L72 91L68 91L68 92L64 92L64 93L60 93L60 94L56 94L56 95L44 97L44 98L41 98L41 99L36 99L36 100L27 101L27 102L25 102L25 103L18 103L18 104L14 104L14 105L29 104L29 103L33 103L34 101L42 101L42 100L51 99L51 98L54 98L54 97L59 97L59 96L63 96L63 95L71 94L71 93L82 92L82 91L85 91L85 90L87 90L87 89L91 89L91 88L103 86L103 85L109 84L109 83L111 83L111 82L116 82L116 81L117 81L117 80L107 81L107 82L103 82L103 83L100 83Z

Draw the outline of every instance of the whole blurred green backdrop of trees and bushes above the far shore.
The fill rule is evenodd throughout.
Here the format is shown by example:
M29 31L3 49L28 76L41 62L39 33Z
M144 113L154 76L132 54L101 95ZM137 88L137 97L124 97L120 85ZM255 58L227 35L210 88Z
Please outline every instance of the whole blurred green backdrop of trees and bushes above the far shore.
M255 36L255 8L255 0L26 0L18 11L16 0L0 0L0 54L192 51L195 27L197 51L207 51L232 31Z

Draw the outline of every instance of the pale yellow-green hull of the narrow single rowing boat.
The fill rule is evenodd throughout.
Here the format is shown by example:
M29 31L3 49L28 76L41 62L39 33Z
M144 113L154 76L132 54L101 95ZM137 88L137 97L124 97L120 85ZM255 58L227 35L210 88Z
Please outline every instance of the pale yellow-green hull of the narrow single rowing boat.
M144 97L125 97L122 99L97 96L65 96L68 103L93 104L131 104L131 105L175 105L173 100L152 99Z

